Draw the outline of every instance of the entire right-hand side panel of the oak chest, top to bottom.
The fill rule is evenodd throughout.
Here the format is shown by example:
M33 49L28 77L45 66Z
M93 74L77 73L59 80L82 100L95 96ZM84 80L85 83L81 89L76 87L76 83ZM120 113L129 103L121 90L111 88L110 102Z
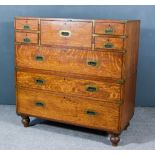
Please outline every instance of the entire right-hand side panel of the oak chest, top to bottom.
M126 34L128 35L126 40L127 53L124 56L125 63L122 68L122 76L126 79L126 83L124 85L124 104L121 109L121 129L128 124L134 114L140 21L127 23L126 27Z

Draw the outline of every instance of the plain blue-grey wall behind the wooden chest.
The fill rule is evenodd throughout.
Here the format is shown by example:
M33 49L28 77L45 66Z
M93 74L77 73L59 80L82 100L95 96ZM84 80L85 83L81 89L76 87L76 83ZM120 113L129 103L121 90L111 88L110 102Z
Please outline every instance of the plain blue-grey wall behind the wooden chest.
M155 106L155 6L0 6L0 104L15 104L14 16L140 19L137 106Z

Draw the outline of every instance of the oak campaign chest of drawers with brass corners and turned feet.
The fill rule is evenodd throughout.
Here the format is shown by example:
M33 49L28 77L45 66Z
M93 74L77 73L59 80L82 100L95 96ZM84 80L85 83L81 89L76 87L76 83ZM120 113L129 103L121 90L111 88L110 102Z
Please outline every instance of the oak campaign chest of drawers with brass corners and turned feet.
M17 113L107 131L134 113L138 20L15 18Z

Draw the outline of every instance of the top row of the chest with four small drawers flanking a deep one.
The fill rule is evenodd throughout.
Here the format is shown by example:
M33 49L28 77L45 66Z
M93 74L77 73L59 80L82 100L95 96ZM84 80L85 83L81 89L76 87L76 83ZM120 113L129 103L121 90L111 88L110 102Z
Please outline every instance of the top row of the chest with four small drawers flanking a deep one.
M123 50L130 21L15 18L15 42L87 49Z

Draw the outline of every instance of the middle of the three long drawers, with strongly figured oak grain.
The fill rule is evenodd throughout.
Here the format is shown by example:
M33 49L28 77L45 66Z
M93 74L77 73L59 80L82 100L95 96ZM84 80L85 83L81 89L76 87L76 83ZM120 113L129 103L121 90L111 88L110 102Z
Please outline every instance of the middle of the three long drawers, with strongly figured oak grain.
M30 72L17 72L17 85L108 101L121 100L118 84Z

